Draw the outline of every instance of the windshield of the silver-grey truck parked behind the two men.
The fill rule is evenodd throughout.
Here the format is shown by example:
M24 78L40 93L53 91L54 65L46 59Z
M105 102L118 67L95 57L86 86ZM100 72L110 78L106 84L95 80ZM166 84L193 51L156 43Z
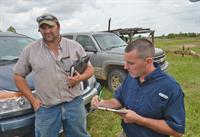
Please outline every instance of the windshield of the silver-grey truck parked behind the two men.
M95 34L93 37L102 50L109 50L127 45L126 42L113 33Z

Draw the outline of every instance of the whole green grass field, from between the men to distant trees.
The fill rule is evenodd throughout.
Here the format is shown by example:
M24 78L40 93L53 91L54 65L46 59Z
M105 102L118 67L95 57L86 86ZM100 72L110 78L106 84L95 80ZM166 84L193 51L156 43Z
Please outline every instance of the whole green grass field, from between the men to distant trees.
M191 46L200 53L200 38L155 39L156 47L164 50ZM167 53L168 73L182 86L185 93L186 133L184 137L200 137L200 58ZM103 98L112 93L102 85ZM120 132L120 118L112 112L95 111L88 115L88 131L92 137L116 137Z

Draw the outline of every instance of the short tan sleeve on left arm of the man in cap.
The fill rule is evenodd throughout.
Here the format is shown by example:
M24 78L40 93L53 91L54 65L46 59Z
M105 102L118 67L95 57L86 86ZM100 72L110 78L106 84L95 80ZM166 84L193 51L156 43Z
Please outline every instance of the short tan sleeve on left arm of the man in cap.
M25 47L13 68L13 72L26 77L31 70L31 65L29 63L29 48Z

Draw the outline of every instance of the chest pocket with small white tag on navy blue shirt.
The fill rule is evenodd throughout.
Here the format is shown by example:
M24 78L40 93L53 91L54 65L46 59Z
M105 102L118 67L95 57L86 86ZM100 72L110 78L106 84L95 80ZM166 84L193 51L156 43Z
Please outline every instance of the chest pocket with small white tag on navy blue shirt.
M140 113L151 118L163 118L169 97L162 91L145 94L142 98L142 108Z

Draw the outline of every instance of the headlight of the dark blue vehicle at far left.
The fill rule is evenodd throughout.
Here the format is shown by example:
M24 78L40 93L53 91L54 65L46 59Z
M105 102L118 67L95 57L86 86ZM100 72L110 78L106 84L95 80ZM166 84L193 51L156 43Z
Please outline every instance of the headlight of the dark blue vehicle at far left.
M0 119L32 111L30 102L21 92L0 90Z

